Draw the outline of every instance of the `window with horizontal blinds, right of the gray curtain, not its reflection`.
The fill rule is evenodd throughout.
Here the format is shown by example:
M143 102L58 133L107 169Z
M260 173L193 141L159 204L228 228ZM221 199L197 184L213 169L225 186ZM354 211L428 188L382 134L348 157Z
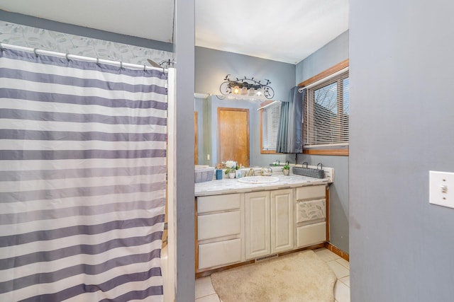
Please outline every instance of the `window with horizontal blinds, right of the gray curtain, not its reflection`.
M304 98L304 149L348 147L348 71L309 85Z

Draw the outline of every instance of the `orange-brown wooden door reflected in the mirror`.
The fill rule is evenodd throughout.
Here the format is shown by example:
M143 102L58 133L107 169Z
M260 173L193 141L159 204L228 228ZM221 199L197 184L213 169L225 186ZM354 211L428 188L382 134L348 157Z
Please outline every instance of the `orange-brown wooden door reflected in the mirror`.
M249 110L218 108L218 162L249 166Z

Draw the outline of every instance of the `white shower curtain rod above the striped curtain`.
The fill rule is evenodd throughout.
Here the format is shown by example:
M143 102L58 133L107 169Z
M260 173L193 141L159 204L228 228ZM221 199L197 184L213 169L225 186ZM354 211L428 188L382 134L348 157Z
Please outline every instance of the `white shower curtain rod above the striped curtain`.
M112 60L92 58L92 57L83 57L83 56L78 56L77 54L64 54L62 52L52 52L50 50L39 50L38 48L23 47L23 46L11 45L11 44L6 44L6 43L0 43L0 50L3 50L4 48L9 48L10 50L21 50L23 52L34 52L36 55L45 54L45 55L50 55L50 56L54 56L54 57L63 57L66 59L79 59L81 61L109 64L109 65L118 66L120 68L127 67L127 68L131 68L131 69L143 69L143 70L158 69L156 67L147 66L145 64L139 65L139 64L132 64L132 63L123 63L121 61L112 61ZM168 69L168 68L164 68L164 67L161 67L161 68L163 71L165 69Z

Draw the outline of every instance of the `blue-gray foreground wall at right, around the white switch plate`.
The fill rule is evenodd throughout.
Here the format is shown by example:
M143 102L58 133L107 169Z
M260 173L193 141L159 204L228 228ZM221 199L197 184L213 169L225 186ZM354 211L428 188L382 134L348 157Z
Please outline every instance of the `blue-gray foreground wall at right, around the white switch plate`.
M454 2L350 1L351 301L453 301Z

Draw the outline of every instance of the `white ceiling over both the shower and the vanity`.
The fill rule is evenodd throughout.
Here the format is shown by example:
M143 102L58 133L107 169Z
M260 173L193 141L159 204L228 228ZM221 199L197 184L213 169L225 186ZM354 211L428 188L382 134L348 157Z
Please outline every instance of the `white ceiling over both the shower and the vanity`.
M0 9L172 42L172 0L1 0ZM348 30L349 0L195 0L195 44L296 64Z

